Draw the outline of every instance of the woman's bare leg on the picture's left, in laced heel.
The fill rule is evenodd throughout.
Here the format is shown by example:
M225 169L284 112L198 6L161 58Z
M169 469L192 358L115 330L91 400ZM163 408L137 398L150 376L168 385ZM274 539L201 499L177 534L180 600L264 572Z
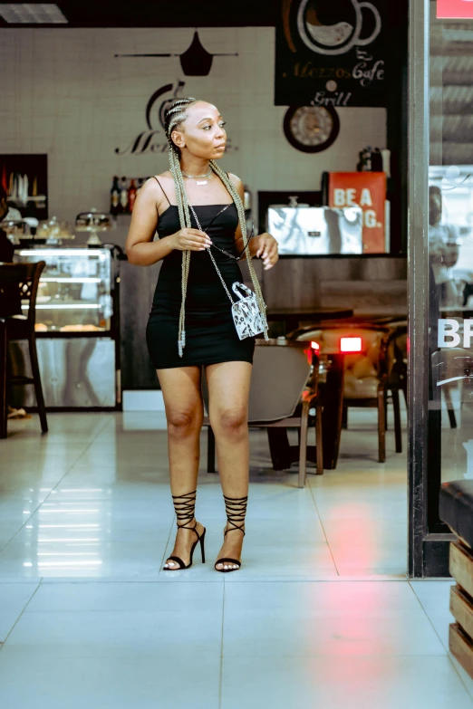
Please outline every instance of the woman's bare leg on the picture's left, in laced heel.
M201 369L182 367L158 369L159 384L164 398L168 420L168 453L171 493L174 497L188 495L184 500L175 500L176 511L181 519L178 526L194 527L191 493L197 488L198 463L200 458L200 429L204 409L201 394ZM188 513L188 518L184 519ZM197 522L200 535L203 526ZM185 564L190 560L190 548L197 540L192 529L179 529L171 556L178 556ZM169 568L178 568L176 561L168 560Z

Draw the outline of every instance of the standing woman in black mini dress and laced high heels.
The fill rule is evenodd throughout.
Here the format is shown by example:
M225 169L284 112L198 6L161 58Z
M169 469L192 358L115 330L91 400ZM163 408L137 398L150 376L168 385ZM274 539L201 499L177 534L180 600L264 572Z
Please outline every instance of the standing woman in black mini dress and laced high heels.
M163 260L147 328L168 419L170 485L178 532L164 570L186 569L205 527L194 511L203 420L201 371L206 368L209 417L216 436L218 468L227 510L217 571L241 566L248 494L247 403L254 338L239 340L226 288L248 266L264 313L251 255L265 269L277 261L277 243L263 234L247 241L243 184L215 162L225 152L225 121L206 101L180 99L166 113L170 170L151 177L137 196L127 254L130 263ZM153 242L155 231L159 241ZM213 256L213 262L210 254ZM217 266L217 268L216 268Z

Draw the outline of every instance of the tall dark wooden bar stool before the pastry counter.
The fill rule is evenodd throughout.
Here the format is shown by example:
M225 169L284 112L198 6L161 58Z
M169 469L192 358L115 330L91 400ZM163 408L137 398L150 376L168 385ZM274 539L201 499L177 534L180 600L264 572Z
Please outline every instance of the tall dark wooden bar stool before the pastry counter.
M36 404L41 422L41 430L47 433L48 424L44 408L43 387L36 350L36 295L44 261L38 263L3 263L0 265L0 438L6 438L7 422L7 356L10 340L27 340L30 354L32 377L14 376L8 378L9 384L33 384ZM19 294L19 302L28 308L26 316L14 314L7 309L12 297ZM3 297L2 297L3 296Z

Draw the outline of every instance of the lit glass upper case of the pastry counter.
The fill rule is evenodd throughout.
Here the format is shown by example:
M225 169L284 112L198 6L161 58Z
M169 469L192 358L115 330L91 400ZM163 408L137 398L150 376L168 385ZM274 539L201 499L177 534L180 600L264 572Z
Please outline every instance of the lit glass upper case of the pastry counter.
M111 330L109 249L19 249L16 256L22 262L46 262L36 301L36 331Z

